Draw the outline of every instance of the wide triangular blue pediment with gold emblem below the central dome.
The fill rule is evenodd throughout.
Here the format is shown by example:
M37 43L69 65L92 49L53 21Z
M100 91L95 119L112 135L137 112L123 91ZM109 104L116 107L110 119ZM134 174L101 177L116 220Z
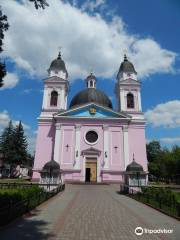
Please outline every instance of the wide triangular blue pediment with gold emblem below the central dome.
M64 112L57 113L54 117L71 117L71 118L123 118L131 117L125 113L115 112L110 108L100 106L95 103L88 103Z

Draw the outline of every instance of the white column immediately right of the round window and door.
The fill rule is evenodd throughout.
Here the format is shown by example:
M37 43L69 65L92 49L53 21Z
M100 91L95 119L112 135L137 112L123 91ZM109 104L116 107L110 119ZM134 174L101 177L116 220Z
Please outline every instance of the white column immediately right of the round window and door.
M104 154L103 154L103 161L104 161L104 169L109 169L109 128L107 125L103 125L104 130Z

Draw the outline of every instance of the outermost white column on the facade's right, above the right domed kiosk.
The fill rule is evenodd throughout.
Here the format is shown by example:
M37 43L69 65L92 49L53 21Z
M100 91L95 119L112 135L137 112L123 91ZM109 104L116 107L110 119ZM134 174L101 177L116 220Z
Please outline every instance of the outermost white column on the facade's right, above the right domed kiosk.
M123 150L124 150L124 170L129 164L129 140L128 140L128 126L123 126Z

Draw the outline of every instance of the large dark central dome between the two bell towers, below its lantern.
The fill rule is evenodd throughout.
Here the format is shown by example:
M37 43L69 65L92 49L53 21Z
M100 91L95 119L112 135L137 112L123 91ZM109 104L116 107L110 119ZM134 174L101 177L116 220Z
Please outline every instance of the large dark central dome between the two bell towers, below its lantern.
M87 88L75 95L71 100L70 108L89 102L94 102L104 107L112 108L112 102L108 96L104 92L95 88Z

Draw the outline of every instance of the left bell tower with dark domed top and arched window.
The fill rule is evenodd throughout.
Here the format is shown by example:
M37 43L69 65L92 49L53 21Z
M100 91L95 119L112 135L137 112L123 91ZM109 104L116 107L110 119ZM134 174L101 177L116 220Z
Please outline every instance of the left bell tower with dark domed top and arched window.
M48 75L49 77L44 81L43 115L52 115L55 112L67 109L68 72L61 58L61 53L51 62Z

